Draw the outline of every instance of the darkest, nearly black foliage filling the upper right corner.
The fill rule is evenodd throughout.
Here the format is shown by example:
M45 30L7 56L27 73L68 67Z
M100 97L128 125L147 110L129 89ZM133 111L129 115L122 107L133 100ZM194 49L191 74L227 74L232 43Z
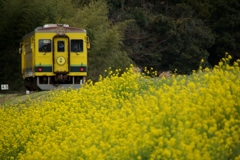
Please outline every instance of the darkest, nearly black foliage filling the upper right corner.
M233 61L240 58L240 2L238 0L182 0L201 18L216 35L214 44L208 49L209 62L218 63L227 51L233 56Z

